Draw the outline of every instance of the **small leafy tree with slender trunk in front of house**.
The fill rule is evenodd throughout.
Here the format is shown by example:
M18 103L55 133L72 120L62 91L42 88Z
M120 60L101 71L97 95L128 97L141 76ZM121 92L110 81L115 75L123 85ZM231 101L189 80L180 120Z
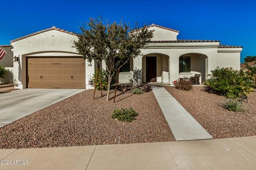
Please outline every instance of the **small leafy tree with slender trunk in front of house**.
M90 19L90 22L79 28L81 32L77 33L78 40L74 41L78 54L89 62L94 60L98 65L102 61L106 62L106 70L102 69L108 77L108 101L115 72L130 58L141 55L141 49L146 48L145 45L153 37L153 31L145 26L139 29L138 25L132 31L125 22L103 23L101 18Z

